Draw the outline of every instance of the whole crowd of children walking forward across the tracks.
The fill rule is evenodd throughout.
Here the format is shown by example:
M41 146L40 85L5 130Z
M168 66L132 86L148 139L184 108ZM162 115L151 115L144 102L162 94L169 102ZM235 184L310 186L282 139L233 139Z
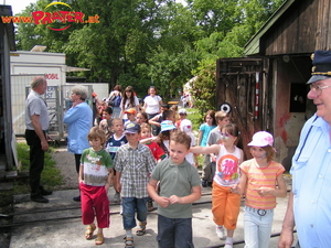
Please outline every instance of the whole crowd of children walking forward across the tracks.
M238 128L229 123L229 117L223 111L206 114L205 123L200 128L201 147L195 147L192 122L183 118L178 129L172 110L162 112L158 137L152 137L150 126L141 121L143 116L140 123L137 118L137 121L128 119L125 125L120 118L107 119L107 114L105 117L104 123L92 128L90 148L81 160L79 188L86 239L93 237L96 217L95 244L104 242L103 228L109 227L107 191L113 185L116 200L121 198L125 247L134 247L135 213L139 222L136 235L146 234L150 198L158 204L158 246L194 247L192 203L201 197L201 180L193 153L203 153L206 154L204 172L213 182L212 213L217 237L225 239L226 228L225 248L233 247L241 197L245 195L246 247L268 247L276 197L287 194L285 169L273 161L275 149L270 133L260 131L253 136L248 143L253 159L243 162L243 150L236 147ZM210 179L203 177L202 185L207 183Z

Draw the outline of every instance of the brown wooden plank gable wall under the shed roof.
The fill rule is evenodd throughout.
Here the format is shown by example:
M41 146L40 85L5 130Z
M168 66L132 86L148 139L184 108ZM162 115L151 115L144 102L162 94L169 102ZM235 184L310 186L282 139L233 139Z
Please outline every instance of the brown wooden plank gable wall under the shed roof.
M261 39L261 54L298 54L331 48L331 1L300 0Z

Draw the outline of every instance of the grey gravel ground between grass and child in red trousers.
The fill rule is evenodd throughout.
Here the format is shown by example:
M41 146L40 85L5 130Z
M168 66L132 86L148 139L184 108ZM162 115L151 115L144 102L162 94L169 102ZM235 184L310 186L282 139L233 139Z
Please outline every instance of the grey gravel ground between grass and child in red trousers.
M67 152L66 145L62 144L61 147L55 148L55 151L52 153L52 157L55 160L56 168L60 169L64 180L64 184L56 187L56 190L58 191L78 188L78 174L76 172L74 154Z

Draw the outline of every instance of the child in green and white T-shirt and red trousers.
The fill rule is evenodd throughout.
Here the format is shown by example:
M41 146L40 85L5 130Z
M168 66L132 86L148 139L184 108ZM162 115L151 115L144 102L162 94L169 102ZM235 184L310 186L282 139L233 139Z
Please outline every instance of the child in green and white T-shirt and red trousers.
M94 127L88 133L90 148L83 151L79 168L79 190L82 201L82 219L88 225L85 238L92 239L96 229L94 219L97 219L98 233L95 245L104 244L103 229L109 227L109 200L107 192L111 185L113 160L104 150L106 134L99 127Z

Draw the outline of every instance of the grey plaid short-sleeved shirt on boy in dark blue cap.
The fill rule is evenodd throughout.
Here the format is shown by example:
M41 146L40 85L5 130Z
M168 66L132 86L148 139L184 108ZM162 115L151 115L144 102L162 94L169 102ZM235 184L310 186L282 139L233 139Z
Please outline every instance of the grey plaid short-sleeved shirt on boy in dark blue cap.
M149 175L157 165L147 145L141 143L132 149L129 143L121 145L115 157L115 170L120 172L121 197L148 197Z

